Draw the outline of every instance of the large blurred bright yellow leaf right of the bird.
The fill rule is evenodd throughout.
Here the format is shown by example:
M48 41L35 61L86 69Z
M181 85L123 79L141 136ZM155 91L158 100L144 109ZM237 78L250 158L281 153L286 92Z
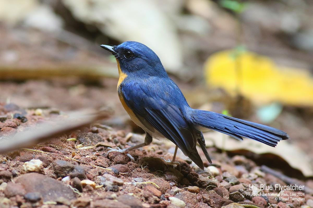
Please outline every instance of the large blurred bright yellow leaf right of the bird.
M207 83L234 95L236 90L258 104L279 101L313 105L313 78L308 71L277 66L266 56L235 50L213 54L205 63Z

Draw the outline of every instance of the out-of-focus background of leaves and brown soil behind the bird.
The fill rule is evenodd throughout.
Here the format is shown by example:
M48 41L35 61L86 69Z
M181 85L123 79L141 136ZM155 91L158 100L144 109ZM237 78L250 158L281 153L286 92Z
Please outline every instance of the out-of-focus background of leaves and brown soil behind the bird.
M312 162L312 11L311 0L0 0L0 102L105 107L108 125L142 133L99 47L139 41L191 107L280 128Z

